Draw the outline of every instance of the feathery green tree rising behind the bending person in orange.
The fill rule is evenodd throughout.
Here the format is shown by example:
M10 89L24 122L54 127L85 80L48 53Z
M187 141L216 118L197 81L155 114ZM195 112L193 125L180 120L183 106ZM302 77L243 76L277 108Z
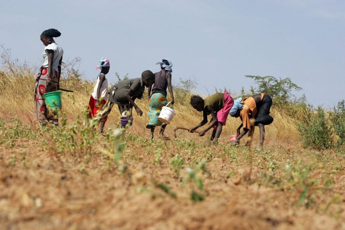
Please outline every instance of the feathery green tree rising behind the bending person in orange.
M272 99L274 99L273 103L281 108L284 107L284 105L286 105L293 96L291 94L292 90L299 91L302 89L293 83L288 77L284 79L280 77L277 79L272 76L260 77L246 75L246 77L254 79L255 84L258 85L258 93L268 94Z

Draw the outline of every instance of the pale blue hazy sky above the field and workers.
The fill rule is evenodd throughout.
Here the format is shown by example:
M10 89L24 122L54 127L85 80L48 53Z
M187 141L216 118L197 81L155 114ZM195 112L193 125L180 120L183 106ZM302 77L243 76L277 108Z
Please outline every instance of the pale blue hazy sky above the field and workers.
M104 2L104 3L102 3ZM234 94L254 85L245 75L289 77L314 106L345 99L345 1L9 1L1 2L0 44L12 57L39 67L43 30L64 60L80 57L87 79L97 60L110 59L130 78L169 58L173 83L197 78L197 92L228 88ZM207 89L207 90L206 90Z

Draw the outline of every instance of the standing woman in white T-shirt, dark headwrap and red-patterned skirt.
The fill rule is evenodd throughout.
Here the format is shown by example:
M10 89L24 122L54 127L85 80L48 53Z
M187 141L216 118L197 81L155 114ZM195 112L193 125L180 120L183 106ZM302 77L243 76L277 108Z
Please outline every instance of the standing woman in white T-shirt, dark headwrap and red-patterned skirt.
M58 126L59 123L57 115L48 114L46 99L43 94L59 89L63 50L53 38L60 35L58 30L48 29L43 31L40 37L45 49L43 51L43 64L36 78L34 100L36 116L42 125L50 122Z

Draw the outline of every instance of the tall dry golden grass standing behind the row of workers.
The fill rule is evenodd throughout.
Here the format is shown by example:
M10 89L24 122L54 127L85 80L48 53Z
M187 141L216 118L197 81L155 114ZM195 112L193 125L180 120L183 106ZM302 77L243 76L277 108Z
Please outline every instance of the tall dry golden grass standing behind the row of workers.
M0 116L10 118L9 113L11 112L12 114L17 114L20 119L35 121L33 91L36 73L30 68L21 68L13 73L11 73L11 71L5 71L0 72L0 106L6 109L1 109ZM111 73L108 74L108 77L110 76ZM62 92L62 113L65 113L68 119L75 119L78 114L87 108L94 84L95 83L86 80L78 80L75 77L61 79L60 87L74 90L73 93ZM198 124L203 119L202 113L197 112L188 103L181 105L179 103L179 98L176 98L175 101L174 109L176 111L176 116L167 128L167 132L170 133L170 135L175 126L188 128ZM136 103L142 109L144 115L140 117L134 114L134 123L139 129L138 131L145 132L146 114L148 111L146 96L144 95L141 100L137 99ZM274 117L274 122L265 127L266 143L275 144L276 140L285 140L287 143L297 143L299 135L295 120L283 112L276 110L274 107L271 108L271 115ZM119 113L117 108L115 108L109 115L105 126L106 129L117 126L118 121ZM229 116L227 124L223 128L221 138L227 138L234 134L239 124L239 118ZM200 129L202 128L203 127ZM258 142L258 128L256 128L256 130L257 131L254 133L254 143ZM146 131L144 135L149 135L148 130ZM208 135L210 135L210 131Z

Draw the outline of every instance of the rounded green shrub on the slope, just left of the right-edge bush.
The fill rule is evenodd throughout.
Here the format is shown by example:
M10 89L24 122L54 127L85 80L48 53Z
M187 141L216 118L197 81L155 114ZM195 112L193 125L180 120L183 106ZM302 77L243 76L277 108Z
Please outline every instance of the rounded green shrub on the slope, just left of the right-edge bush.
M323 108L318 107L315 113L311 113L309 121L298 124L300 136L304 139L304 145L315 146L319 150L332 147L332 130Z

